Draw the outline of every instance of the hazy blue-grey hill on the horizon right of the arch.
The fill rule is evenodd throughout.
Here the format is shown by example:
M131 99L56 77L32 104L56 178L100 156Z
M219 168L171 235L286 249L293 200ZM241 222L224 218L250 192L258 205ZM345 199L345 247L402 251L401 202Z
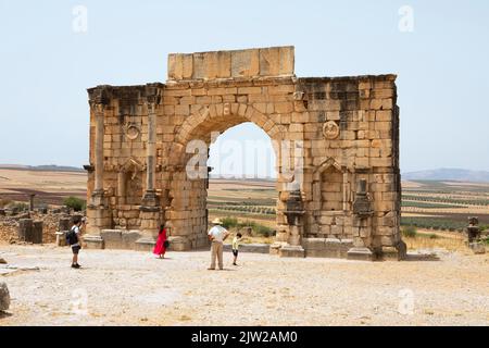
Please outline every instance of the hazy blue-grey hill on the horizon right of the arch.
M489 183L489 172L469 171L461 169L438 169L431 171L403 173L402 179Z

